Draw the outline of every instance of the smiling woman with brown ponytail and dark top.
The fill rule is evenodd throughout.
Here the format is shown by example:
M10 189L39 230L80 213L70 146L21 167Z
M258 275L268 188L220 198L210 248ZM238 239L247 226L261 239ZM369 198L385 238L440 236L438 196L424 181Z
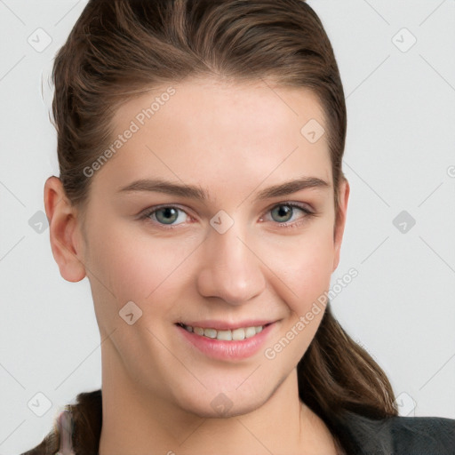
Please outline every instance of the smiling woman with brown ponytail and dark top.
M53 76L44 203L102 387L28 455L454 453L331 315L346 106L307 4L92 0Z

